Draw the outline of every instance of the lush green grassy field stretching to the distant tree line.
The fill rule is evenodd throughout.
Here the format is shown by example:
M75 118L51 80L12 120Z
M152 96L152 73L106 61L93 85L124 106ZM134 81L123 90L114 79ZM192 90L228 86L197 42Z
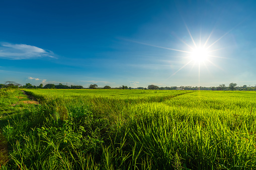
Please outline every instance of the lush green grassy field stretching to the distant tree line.
M25 91L0 91L0 169L256 167L255 91Z

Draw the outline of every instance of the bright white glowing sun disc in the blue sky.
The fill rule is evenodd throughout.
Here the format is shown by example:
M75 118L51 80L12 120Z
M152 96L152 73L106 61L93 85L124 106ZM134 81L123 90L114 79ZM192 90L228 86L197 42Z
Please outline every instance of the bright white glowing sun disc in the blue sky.
M196 47L191 52L191 60L197 63L202 63L208 60L209 52L204 47Z

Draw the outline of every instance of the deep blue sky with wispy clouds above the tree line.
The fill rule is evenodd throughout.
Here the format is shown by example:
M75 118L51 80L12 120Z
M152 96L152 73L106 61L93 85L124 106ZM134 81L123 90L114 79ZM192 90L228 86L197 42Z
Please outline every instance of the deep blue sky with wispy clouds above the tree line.
M254 86L255 7L255 1L3 1L0 83ZM195 61L193 49L205 43L207 60Z

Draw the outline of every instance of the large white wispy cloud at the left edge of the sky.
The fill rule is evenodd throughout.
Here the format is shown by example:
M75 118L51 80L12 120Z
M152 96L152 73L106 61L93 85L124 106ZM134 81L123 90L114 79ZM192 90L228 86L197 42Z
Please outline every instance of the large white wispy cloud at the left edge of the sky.
M56 58L56 55L49 50L43 50L36 46L26 44L0 43L0 58L10 60L22 60L50 57Z

